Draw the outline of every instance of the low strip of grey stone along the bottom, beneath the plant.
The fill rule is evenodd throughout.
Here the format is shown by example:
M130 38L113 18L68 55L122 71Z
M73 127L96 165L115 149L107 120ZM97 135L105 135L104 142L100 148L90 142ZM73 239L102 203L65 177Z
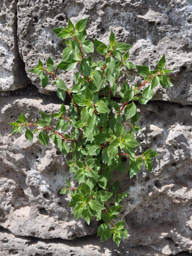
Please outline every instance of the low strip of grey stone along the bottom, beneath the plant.
M8 230L0 228L0 252L2 256L163 256L147 246L128 248L121 242L118 248L112 239L100 243L100 237L86 236L73 241L62 239L40 239L37 237L14 236ZM177 256L187 256L181 252Z

